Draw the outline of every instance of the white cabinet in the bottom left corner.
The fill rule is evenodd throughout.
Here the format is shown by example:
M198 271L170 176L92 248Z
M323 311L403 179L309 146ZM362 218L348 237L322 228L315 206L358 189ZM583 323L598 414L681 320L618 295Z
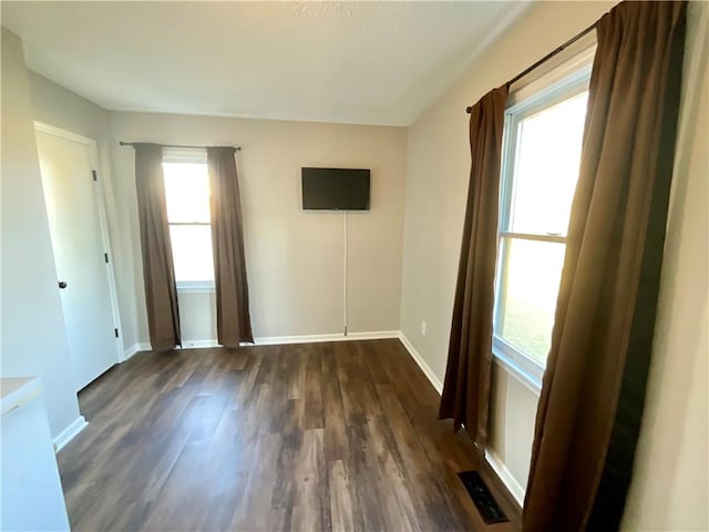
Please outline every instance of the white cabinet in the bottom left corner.
M39 379L2 378L0 530L68 531Z

